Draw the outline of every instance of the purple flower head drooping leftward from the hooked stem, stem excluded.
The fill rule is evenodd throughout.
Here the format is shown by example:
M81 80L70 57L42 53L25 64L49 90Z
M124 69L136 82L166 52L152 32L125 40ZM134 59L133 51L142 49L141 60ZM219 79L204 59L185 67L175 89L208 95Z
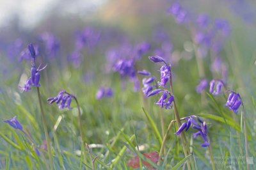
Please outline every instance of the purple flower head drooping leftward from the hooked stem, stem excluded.
M47 98L47 101L49 104L53 104L55 102L59 109L72 109L72 107L70 107L72 98L74 98L74 95L67 93L65 90L61 90L56 97Z

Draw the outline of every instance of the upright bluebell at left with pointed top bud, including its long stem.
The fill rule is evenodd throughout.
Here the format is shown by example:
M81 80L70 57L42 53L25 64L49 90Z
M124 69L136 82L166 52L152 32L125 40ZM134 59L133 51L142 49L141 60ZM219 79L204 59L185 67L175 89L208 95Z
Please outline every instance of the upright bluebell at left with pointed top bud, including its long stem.
M31 58L31 77L29 77L29 79L26 81L26 84L24 84L23 87L20 87L20 89L22 89L23 91L29 91L31 89L31 86L35 86L36 87L36 91L37 91L37 95L38 95L38 102L40 105L40 110L41 110L41 117L42 117L42 123L44 126L44 134L45 134L45 139L46 139L46 144L47 144L47 152L48 152L48 156L49 156L49 160L50 160L50 169L54 169L53 166L53 158L52 158L52 154L51 154L51 145L50 145L50 139L49 139L49 134L47 131L47 125L46 125L46 121L45 121L45 113L44 113L44 107L42 104L42 100L41 100L41 95L40 95L40 71L44 70L46 68L46 66L44 66L44 68L40 69L40 66L38 66L38 68L36 69L36 62L35 62L35 58L37 56L37 52L36 49L34 47L34 45L32 43L30 43L28 45L28 51L29 54L28 56L30 56Z

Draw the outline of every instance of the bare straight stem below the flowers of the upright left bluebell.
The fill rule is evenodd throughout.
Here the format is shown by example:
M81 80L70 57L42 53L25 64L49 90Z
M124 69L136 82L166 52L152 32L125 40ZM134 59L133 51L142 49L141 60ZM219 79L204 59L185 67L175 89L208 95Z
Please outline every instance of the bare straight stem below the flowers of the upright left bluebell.
M42 100L41 100L41 95L40 95L40 89L39 89L39 87L36 87L36 89L37 89L37 95L38 95L39 105L40 105L40 109L41 109L41 117L42 117L43 126L44 126L44 134L45 134L45 139L46 139L46 144L47 144L47 152L48 152L48 156L49 156L49 160L50 160L50 169L54 169L53 168L53 158L52 158L52 154L51 154L50 139L49 139L49 134L47 131L44 108L42 105Z

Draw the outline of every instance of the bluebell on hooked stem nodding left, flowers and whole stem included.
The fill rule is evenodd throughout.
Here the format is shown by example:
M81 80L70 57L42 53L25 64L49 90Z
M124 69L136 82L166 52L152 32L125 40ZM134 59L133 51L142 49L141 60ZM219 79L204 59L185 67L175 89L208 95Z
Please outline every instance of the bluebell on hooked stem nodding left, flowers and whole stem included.
M68 93L65 90L61 90L56 97L47 98L47 101L49 102L49 104L53 104L55 102L58 105L59 109L64 109L64 108L72 109L72 107L70 107L72 99L74 99L76 101L76 105L77 105L77 109L78 109L79 131L80 131L80 137L81 137L80 167L82 167L83 150L84 150L83 128L82 128L81 110L80 110L79 102L78 102L76 96ZM85 157L84 157L84 160L85 160Z

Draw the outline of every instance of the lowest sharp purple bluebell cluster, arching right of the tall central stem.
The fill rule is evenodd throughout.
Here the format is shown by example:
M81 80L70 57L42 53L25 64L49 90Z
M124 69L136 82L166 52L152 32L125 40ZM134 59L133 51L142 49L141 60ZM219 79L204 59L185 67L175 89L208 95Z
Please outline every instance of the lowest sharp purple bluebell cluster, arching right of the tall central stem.
M196 120L198 122L196 122L194 120L194 118L196 118ZM198 132L195 132L193 134L193 137L195 138L198 135L201 135L204 140L204 143L202 143L201 146L202 147L209 146L210 143L207 139L207 124L205 123L205 121L200 120L200 118L198 118L197 116L188 116L188 117L182 118L180 120L186 120L186 122L182 123L182 125L179 127L177 132L175 132L176 135L180 135L180 133L183 130L187 131L189 129L189 127L192 127L195 130L198 130Z

